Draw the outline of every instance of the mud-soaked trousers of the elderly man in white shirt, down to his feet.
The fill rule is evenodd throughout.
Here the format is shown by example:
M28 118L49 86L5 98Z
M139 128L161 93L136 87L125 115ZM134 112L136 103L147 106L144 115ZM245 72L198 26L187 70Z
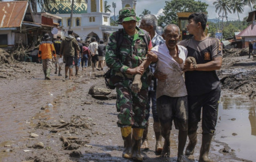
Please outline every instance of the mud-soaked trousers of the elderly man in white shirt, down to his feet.
M164 138L162 157L169 157L170 155L170 130L172 129L172 121L174 120L175 127L177 129L179 128L178 161L182 161L188 129L187 96L161 96L157 98L156 102L157 113L161 122L161 133Z

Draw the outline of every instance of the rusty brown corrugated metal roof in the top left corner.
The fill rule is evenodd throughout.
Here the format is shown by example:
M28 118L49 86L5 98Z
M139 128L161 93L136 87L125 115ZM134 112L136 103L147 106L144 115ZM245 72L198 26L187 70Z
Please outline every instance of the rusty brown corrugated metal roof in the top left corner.
M28 1L0 2L0 28L20 27L23 19L31 20L27 8Z

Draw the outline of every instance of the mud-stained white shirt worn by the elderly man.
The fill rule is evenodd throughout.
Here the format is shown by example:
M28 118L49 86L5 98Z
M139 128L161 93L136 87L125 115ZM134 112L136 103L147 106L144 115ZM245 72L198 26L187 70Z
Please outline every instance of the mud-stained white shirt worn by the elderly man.
M182 68L187 57L187 49L183 46L178 46L179 58L183 60L182 64L177 63L169 54L169 49L166 43L156 46L152 49L157 57L156 70L167 74L167 79L164 82L157 81L156 98L163 95L169 97L182 97L187 95L187 90L182 76Z

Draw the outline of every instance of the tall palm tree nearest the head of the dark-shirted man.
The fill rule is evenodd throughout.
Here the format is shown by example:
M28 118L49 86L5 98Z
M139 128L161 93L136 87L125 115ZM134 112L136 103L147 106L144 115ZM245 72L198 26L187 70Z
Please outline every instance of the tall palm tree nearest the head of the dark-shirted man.
M230 10L230 1L229 0L218 0L216 2L213 3L215 5L215 12L217 13L218 11L218 15L220 15L222 13L222 30L223 30L223 18L224 18L224 14L225 14L225 18L228 22L228 12L231 14L231 10Z

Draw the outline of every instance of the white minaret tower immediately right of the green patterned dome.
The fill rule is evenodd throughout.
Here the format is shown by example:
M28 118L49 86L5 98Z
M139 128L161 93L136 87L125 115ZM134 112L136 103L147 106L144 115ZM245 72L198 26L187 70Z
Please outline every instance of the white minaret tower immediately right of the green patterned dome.
M88 0L87 13L105 13L104 0Z

